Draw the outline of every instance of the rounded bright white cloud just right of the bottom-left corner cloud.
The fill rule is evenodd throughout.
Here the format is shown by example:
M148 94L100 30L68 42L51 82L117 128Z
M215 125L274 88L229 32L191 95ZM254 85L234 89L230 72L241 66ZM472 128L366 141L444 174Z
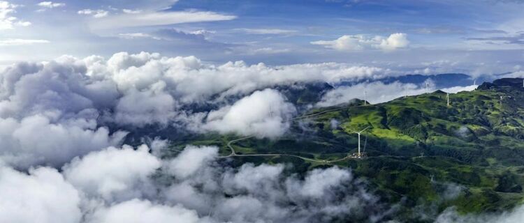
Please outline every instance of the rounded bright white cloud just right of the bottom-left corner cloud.
M161 161L149 153L149 147L106 148L75 158L63 167L68 182L106 201L122 201L140 197L151 174Z

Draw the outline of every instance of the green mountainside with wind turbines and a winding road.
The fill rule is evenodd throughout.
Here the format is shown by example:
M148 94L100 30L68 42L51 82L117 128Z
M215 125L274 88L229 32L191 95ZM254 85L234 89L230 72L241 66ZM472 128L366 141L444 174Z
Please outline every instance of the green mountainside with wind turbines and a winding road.
M220 145L228 155L231 144L240 155L287 154L239 156L233 165L291 163L299 175L334 164L349 167L382 202L400 204L392 220L432 222L449 207L458 213L502 211L524 201L522 83L486 82L476 91L450 94L449 106L442 91L377 105L354 100L309 110L309 118L293 121L289 133L276 140L201 134L172 147ZM358 146L353 131L364 128L361 144L367 157L348 158Z

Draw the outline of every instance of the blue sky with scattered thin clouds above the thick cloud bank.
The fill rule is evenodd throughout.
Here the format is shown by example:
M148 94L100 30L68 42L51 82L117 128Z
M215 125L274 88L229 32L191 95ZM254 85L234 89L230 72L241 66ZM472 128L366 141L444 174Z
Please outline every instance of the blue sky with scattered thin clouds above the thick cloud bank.
M524 61L522 1L0 1L0 64L63 54L497 73ZM440 70L439 70L440 69Z

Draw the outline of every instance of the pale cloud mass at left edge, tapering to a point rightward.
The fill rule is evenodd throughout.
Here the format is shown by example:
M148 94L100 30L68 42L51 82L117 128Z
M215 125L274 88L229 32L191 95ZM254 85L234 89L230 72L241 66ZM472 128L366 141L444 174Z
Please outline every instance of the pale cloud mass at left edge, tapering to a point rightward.
M0 157L17 167L36 164L59 166L73 157L85 155L122 141L124 132L110 134L107 128L96 128L84 119L51 123L42 115L0 118Z

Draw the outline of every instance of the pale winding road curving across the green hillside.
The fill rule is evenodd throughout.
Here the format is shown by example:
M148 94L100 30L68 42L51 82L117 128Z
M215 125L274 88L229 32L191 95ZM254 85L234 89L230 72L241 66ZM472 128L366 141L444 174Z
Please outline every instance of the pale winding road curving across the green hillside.
M338 107L336 109L329 109L329 110L325 110L325 111L322 111L322 112L316 112L314 114L307 114L307 115L304 115L304 116L298 116L298 117L295 117L295 118L291 118L291 121L299 121L299 120L302 120L304 118L310 118L310 117L314 117L314 116L319 116L321 114L325 114L325 113L328 113L328 112L334 112L334 111L338 111L338 110L342 110L342 109L348 109L348 108L351 108L351 107L364 107L364 106L365 105L351 105L351 106L346 106L346 107ZM257 153L257 154L237 154L237 153L235 153L235 148L233 148L232 144L234 144L237 141L242 141L242 140L249 139L249 138L252 138L252 137L255 137L255 136L254 135L250 135L250 136L247 136L247 137L242 137L242 138L233 139L231 141L228 141L227 147L231 150L231 153L229 155L219 156L219 158L248 157L248 156L287 156L287 157L297 157L297 158L300 158L300 159L305 160L305 161L321 162L321 163L333 163L333 162L340 162L340 161L347 160L347 159L352 159L352 158L354 158L354 159L360 158L360 157L354 157L354 156L351 156L351 155L347 155L346 157L340 158L338 160L318 160L318 159L312 159L312 158L308 158L308 157L303 157L303 156L300 156L300 155L291 155L291 154L285 154L285 153Z

